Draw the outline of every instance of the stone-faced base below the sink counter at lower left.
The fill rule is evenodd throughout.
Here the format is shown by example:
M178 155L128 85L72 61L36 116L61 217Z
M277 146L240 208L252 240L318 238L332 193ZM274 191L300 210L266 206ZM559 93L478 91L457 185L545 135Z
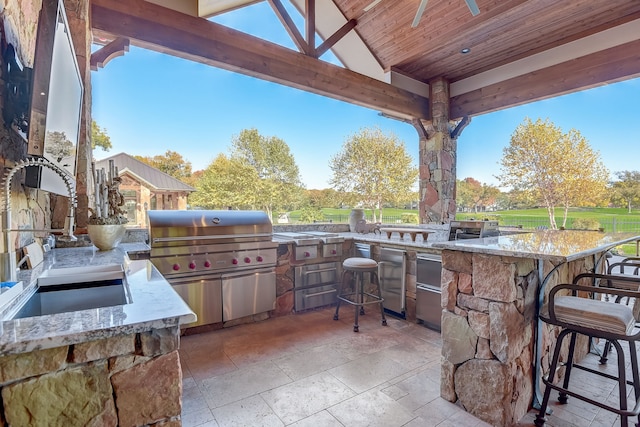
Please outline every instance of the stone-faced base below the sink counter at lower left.
M179 426L179 339L175 327L0 357L0 420Z

